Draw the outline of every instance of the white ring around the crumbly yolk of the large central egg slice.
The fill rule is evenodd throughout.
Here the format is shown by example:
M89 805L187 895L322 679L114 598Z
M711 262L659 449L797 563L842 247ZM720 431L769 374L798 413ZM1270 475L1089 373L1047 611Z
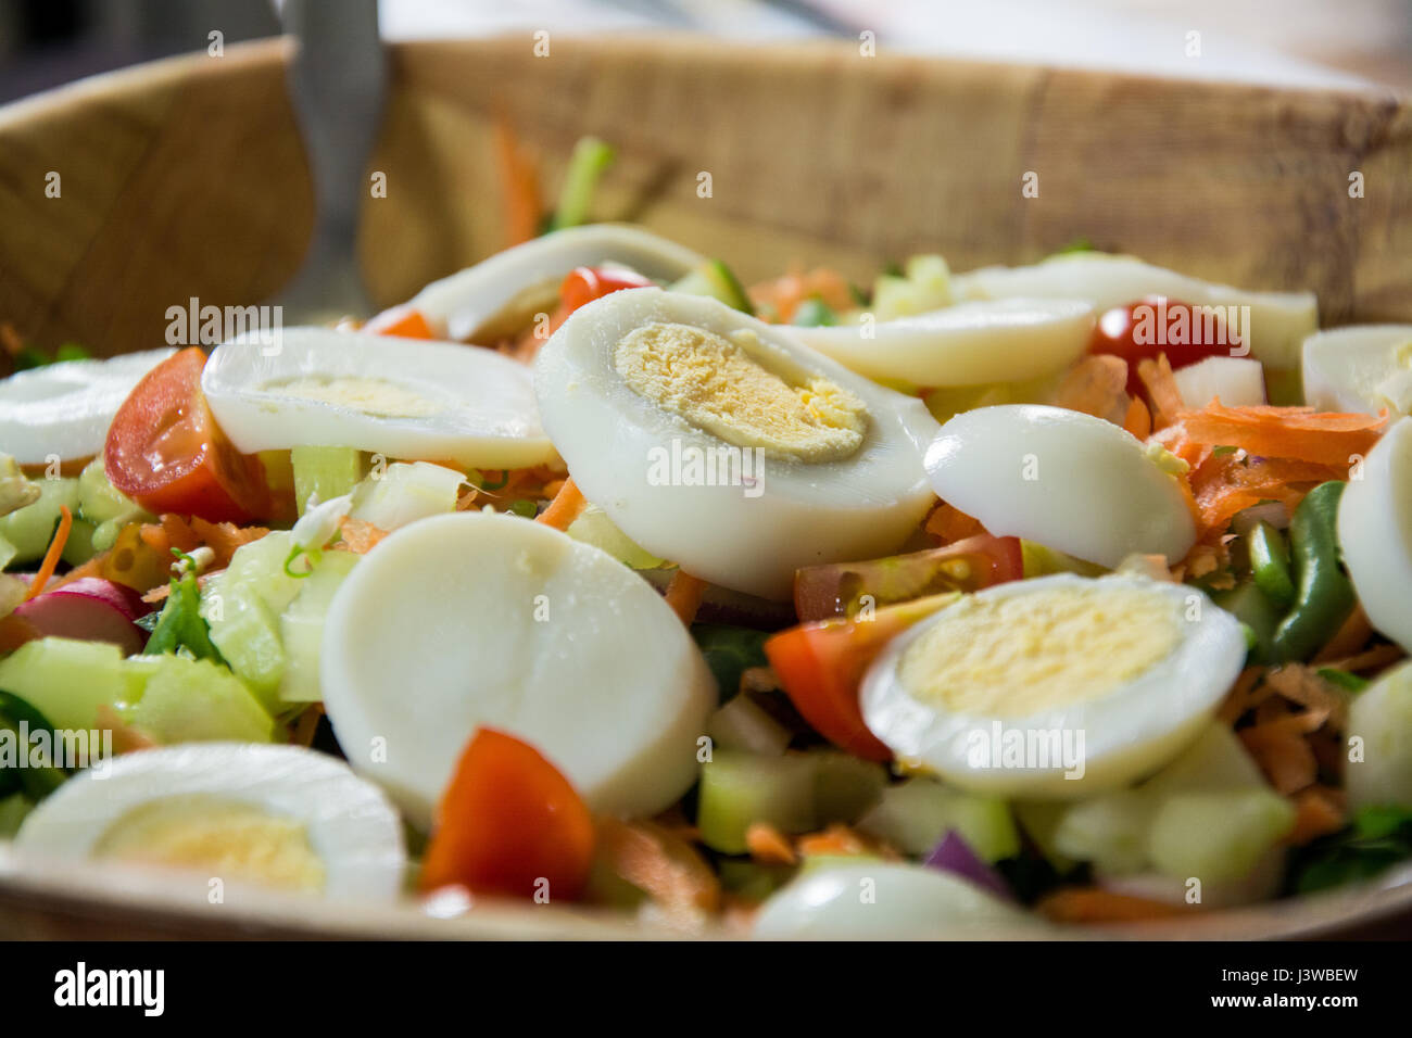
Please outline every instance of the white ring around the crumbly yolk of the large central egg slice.
M770 357L863 401L870 418L861 446L837 462L767 458L758 494L743 486L654 486L654 455L671 453L674 443L683 452L727 443L638 395L616 371L614 346L651 322L754 332ZM539 352L535 395L575 483L614 525L693 576L748 595L786 599L801 566L890 554L935 500L922 451L938 425L919 400L716 299L634 288L590 302Z

